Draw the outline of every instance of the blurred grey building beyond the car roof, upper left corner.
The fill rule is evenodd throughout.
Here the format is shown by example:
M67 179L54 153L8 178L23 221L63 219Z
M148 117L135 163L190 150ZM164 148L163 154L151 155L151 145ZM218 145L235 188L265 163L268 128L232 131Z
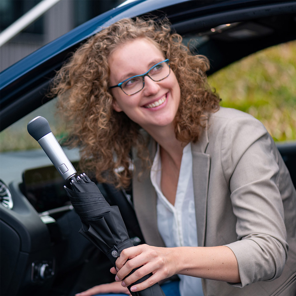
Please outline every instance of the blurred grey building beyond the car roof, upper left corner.
M0 32L41 0L0 0ZM0 47L0 71L123 0L60 0L38 20Z

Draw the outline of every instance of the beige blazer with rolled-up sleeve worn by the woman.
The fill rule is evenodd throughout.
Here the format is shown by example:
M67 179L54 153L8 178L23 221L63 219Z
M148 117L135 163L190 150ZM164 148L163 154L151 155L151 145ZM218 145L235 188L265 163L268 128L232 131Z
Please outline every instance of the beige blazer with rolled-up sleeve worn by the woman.
M240 284L202 279L204 295L296 294L296 192L273 139L244 112L220 108L191 145L199 246L234 252ZM156 143L150 143L153 159ZM156 192L140 178L134 153L133 201L147 244L164 246Z

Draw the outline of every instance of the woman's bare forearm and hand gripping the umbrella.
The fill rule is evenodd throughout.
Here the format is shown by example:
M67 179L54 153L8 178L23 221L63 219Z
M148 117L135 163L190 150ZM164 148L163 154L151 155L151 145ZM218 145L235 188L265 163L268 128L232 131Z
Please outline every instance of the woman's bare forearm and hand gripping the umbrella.
M122 281L123 287L152 272L149 279L131 286L132 292L146 289L174 274L240 282L237 259L227 246L161 248L142 244L123 250L116 266L110 271L116 274L115 281ZM140 268L127 276L137 267Z

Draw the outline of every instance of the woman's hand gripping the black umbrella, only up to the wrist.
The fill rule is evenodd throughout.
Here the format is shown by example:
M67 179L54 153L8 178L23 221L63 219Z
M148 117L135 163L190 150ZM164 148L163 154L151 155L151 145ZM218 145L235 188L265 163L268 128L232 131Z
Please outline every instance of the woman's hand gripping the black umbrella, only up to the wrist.
M115 268L111 268L110 271L116 274L115 281L122 281L123 287L128 287L143 276L152 273L149 279L131 287L132 292L141 291L176 274L177 259L174 258L176 256L174 249L152 247L147 244L124 249L116 260L117 271ZM126 277L137 267L140 268Z

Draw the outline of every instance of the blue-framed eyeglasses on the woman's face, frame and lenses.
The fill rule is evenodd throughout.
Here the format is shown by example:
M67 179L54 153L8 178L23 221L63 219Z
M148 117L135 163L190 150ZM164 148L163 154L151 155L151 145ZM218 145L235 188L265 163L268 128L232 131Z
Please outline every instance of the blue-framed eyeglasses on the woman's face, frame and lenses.
M168 75L170 75L169 59L165 59L152 66L146 73L132 76L117 85L110 86L109 89L120 87L126 95L131 96L144 88L145 76L148 76L150 79L157 82L167 78Z

